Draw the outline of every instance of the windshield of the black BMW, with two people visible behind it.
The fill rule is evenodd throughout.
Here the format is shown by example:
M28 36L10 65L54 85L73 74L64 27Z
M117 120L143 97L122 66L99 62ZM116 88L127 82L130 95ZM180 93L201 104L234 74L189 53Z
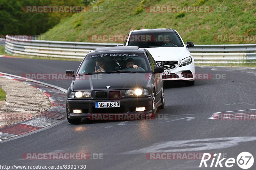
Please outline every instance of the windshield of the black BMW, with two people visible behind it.
M133 65L137 65L138 68L133 68ZM99 68L105 71L100 73L149 73L143 53L102 53L86 55L78 74L91 74Z

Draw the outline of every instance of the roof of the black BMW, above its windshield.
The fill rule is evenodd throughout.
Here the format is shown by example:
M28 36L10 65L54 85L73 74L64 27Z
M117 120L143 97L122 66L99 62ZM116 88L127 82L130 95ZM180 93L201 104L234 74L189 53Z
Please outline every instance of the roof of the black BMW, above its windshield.
M139 48L138 46L121 46L121 47L103 47L96 48L90 51L88 54L102 54L102 53L143 53L144 48Z

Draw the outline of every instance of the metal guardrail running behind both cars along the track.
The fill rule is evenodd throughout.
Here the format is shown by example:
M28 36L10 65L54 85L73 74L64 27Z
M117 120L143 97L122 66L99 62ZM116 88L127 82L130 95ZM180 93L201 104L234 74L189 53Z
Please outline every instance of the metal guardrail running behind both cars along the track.
M42 41L6 35L5 52L12 55L84 58L91 50L113 47L118 43ZM196 61L245 61L256 59L256 44L195 45L188 48Z

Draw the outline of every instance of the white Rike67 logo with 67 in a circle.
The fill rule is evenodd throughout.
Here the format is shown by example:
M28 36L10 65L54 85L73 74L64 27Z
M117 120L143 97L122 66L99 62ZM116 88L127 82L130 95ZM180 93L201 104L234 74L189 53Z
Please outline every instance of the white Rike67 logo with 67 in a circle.
M218 158L217 158L217 154L214 153L211 165L209 167L223 167L222 163L225 163L225 166L230 168L230 167L234 166L235 163L237 163L237 165L240 168L249 169L250 167L252 167L252 165L254 163L254 158L253 158L252 154L249 153L249 152L239 153L239 155L236 157L236 159L235 158L228 158L228 159L227 158L222 158L221 159L220 156L221 156L221 153L218 154ZM199 167L202 167L203 164L204 164L204 167L208 167L207 164L206 164L206 161L208 161L210 158L211 158L210 153L204 153ZM216 158L217 158L217 160L216 160L215 166L214 166L214 161L215 161ZM227 160L224 161L225 159L227 159Z

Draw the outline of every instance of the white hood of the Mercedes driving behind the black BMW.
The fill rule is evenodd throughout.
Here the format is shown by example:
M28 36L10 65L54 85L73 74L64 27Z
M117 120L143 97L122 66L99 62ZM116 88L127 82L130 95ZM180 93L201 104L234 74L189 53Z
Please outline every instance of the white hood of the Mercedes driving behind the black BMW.
M185 47L155 47L146 49L153 56L155 61L179 61L191 56L190 52Z

